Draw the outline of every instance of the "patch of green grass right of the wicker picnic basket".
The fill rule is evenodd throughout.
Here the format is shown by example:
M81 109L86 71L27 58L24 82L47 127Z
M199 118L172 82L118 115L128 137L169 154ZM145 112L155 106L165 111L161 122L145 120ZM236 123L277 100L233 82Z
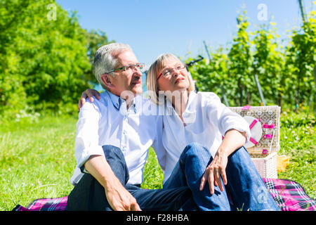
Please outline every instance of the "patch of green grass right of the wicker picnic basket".
M310 198L316 198L316 134L315 117L301 113L282 113L280 151L289 155L290 164L281 179L291 179L303 186Z

